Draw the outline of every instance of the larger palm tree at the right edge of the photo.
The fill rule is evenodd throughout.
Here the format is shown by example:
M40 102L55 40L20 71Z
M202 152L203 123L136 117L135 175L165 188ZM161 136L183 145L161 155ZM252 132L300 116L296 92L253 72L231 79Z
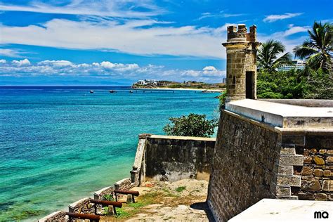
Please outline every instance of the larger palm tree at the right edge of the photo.
M333 26L326 22L314 22L312 32L308 30L310 39L294 48L295 56L306 59L308 67L318 70L329 70L333 53Z

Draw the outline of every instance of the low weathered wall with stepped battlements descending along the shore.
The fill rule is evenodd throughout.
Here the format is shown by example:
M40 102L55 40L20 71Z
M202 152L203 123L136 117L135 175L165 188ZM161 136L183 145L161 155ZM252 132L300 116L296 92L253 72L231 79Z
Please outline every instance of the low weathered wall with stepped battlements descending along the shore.
M105 200L105 195L113 195L113 190L129 190L148 180L178 181L183 178L197 178L208 181L215 140L216 138L141 134L130 177L94 192L93 197L73 202L68 206L68 211L95 214L95 204L91 202L92 199ZM96 207L100 213L102 208ZM39 221L69 220L65 211L55 211Z

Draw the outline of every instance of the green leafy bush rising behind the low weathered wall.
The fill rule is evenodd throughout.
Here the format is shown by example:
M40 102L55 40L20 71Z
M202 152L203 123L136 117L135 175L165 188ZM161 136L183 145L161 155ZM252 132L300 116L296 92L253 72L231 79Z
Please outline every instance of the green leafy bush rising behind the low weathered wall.
M190 113L188 116L171 117L171 123L166 124L163 130L169 136L200 136L213 135L217 121L206 119L206 115Z

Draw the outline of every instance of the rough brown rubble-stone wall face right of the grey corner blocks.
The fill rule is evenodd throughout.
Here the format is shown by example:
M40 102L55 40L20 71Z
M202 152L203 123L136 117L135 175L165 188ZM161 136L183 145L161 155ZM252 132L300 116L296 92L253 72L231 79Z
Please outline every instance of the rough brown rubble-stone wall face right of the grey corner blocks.
M297 141L303 142L297 143L295 149L304 161L303 166L294 167L294 174L301 176L301 187L292 189L292 195L299 200L332 201L333 135L299 135Z

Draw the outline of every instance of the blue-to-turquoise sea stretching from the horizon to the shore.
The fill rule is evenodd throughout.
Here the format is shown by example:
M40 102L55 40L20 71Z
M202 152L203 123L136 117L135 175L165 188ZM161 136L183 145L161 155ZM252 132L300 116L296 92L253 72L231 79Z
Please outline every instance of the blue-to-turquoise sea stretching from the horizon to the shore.
M34 221L129 177L138 134L163 133L169 117L217 116L218 93L129 91L0 87L0 221Z

